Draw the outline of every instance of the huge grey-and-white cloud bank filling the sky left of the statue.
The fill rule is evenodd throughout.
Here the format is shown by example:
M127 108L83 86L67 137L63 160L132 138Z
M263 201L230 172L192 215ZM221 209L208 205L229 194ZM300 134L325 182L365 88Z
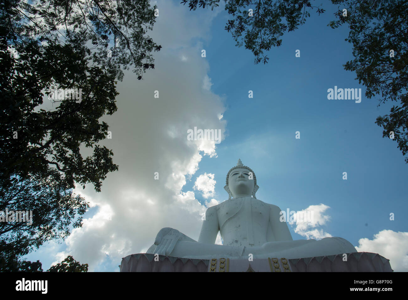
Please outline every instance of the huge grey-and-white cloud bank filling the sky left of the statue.
M216 156L214 141L187 140L187 130L221 129L222 136L225 132L226 122L219 118L225 111L222 98L202 88L209 67L201 49L211 38L217 11L191 14L165 0L157 1L157 7L160 17L149 35L163 48L154 53L155 70L146 72L142 81L126 73L117 87L118 111L101 119L112 132L102 145L112 149L119 171L108 174L100 193L92 186L80 191L96 213L84 218L82 228L72 230L66 249L54 255L55 262L72 255L88 263L89 271L119 271L121 259L145 252L163 227L197 240L201 213L217 203L211 199L200 204L193 191L183 191L202 157ZM209 78L206 86L211 87ZM159 98L154 98L156 90ZM89 149L83 151L86 156ZM207 198L213 196L211 180L207 186L196 181Z

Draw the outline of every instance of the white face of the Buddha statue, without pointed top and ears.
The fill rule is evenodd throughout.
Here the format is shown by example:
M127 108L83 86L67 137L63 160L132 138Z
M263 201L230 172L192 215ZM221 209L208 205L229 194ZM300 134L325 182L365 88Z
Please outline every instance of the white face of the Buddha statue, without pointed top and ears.
M254 180L248 179L248 169L233 169L228 175L228 188L234 198L252 195Z

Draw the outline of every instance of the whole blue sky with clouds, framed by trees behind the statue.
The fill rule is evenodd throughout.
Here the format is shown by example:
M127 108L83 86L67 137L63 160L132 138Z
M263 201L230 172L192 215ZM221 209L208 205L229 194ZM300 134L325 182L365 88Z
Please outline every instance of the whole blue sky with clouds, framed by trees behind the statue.
M353 59L352 46L344 41L348 30L326 26L336 7L325 3L324 14L311 12L306 24L285 33L281 47L266 53L268 64L255 65L251 51L235 47L224 30L228 14L223 9L188 11L178 2L157 1L160 16L152 36L164 47L155 70L142 82L127 73L118 84L118 112L106 118L113 139L106 143L120 169L108 176L101 193L92 187L83 191L93 203L84 216L87 226L75 229L67 242L51 243L27 258L40 259L47 269L73 254L89 262L91 271L118 271L120 258L146 251L162 227L196 239L205 202L228 199L226 173L240 158L255 172L259 200L285 211L324 204L330 207L323 213L329 220L317 229L345 238L359 251L380 253L390 258L393 269L407 271L408 165L396 142L382 138L382 127L375 124L392 104L377 107L377 99L365 97L355 73L344 70L343 64ZM199 86L206 76L211 78L209 91ZM327 90L335 86L361 88L361 103L328 100ZM155 89L175 98L153 102ZM216 117L220 113L221 120ZM184 129L194 126L222 129L224 140L212 157L210 150L207 155L200 151L202 145L193 149L186 144ZM172 139L164 138L164 132ZM152 182L156 170L162 179ZM149 180L140 173L149 174ZM209 198L194 189L204 174L214 174L216 181ZM191 193L190 199L186 195ZM149 201L157 207L152 209ZM126 211L133 209L127 218ZM289 225L293 239L304 239L295 227ZM391 244L398 253L390 251Z

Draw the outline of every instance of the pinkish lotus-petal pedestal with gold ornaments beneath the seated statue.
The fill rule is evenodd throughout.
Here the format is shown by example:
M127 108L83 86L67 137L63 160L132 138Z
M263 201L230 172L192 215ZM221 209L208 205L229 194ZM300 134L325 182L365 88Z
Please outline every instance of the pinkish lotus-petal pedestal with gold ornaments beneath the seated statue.
M355 252L309 258L213 258L200 260L147 253L122 258L121 272L393 272L377 253Z

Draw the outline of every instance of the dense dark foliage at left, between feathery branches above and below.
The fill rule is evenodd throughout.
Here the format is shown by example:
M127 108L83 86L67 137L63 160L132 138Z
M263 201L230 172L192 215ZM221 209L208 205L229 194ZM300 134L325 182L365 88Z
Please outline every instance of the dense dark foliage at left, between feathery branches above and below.
M0 47L3 188L35 173L44 176L55 166L69 188L74 187L74 181L90 182L100 191L106 173L118 169L112 162L113 153L97 144L108 129L99 118L117 110L114 76L87 64L86 47L40 47L31 42L16 46L18 58L7 50L6 36L0 36ZM81 88L83 101L62 100L55 110L36 109L43 102L42 90L52 85ZM93 148L93 156L83 159L81 144Z

